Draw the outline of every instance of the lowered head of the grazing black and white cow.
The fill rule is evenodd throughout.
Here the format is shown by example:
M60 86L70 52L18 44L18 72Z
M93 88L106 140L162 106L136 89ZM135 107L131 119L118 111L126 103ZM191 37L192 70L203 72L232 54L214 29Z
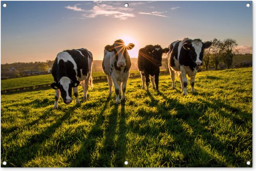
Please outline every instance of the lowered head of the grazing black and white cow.
M64 103L69 104L71 103L71 96L72 96L72 87L77 87L80 84L79 81L71 81L67 76L63 76L60 82L52 83L51 87L53 89L60 89L61 97Z

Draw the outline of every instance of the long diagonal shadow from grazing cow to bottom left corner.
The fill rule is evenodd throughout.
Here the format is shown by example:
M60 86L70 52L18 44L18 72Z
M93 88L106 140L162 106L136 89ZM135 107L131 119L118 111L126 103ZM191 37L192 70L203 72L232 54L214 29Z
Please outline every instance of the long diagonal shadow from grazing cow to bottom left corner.
M7 161L13 163L17 167L22 167L29 160L35 158L37 153L40 151L41 146L49 139L55 132L56 129L61 127L63 121L67 120L75 110L75 106L70 108L61 118L57 119L54 124L47 127L41 133L34 134L32 137L26 140L25 145L13 148L6 154Z

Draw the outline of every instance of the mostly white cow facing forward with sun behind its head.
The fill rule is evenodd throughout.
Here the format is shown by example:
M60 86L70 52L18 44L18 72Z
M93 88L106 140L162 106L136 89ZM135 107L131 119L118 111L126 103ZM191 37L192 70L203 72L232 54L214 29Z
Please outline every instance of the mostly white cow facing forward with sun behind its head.
M109 95L112 94L112 82L114 82L116 104L120 104L121 101L125 100L126 84L131 68L131 59L127 50L131 50L134 46L134 44L126 46L121 39L116 40L112 45L105 46L102 68L103 72L108 76ZM122 97L120 101L121 88Z

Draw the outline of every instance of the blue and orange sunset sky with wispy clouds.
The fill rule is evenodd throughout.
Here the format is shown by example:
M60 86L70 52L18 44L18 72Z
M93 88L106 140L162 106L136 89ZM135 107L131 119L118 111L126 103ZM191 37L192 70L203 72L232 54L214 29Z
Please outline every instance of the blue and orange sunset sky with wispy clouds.
M119 38L135 44L130 57L185 37L233 38L240 53L252 53L252 32L251 1L1 1L1 63L45 62L78 48L102 60Z

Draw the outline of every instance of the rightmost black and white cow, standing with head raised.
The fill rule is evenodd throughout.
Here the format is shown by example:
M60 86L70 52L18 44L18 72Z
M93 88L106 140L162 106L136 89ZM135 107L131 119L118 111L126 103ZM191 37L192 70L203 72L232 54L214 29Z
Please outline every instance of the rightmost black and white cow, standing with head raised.
M175 41L169 45L168 66L173 89L175 89L175 71L178 71L183 95L187 94L187 74L190 77L191 92L194 92L195 75L198 66L202 66L203 51L211 44L211 42L203 43L201 39L184 38L182 41Z

